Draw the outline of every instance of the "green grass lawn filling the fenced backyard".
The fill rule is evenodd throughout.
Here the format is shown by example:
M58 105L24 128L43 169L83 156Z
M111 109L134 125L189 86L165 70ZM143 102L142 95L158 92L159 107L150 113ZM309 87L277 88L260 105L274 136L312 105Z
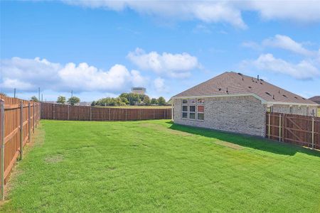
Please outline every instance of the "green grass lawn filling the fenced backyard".
M162 121L41 121L3 212L320 212L320 152Z

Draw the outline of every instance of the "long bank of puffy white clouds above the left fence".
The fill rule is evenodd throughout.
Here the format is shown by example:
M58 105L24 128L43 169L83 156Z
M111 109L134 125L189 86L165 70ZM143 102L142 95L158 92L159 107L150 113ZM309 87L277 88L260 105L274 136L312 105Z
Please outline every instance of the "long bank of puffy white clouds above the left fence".
M60 65L39 58L1 60L1 71L0 86L3 90L36 91L41 87L53 91L123 92L144 82L139 71L129 72L124 65L114 65L105 71L85 62Z

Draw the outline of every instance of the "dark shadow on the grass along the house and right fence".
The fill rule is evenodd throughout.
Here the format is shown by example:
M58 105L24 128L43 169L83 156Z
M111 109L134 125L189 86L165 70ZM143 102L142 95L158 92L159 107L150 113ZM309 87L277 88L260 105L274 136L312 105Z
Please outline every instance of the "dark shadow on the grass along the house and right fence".
M239 133L228 133L225 131L203 129L193 126L183 126L180 124L174 124L172 121L168 121L166 123L171 124L169 129L205 136L207 138L216 138L220 141L234 143L243 147L255 148L260 151L267 151L279 155L295 155L296 153L305 153L320 158L320 151L311 150L309 148L304 148L302 146L296 146L289 143L282 143L268 140L267 138L247 136Z

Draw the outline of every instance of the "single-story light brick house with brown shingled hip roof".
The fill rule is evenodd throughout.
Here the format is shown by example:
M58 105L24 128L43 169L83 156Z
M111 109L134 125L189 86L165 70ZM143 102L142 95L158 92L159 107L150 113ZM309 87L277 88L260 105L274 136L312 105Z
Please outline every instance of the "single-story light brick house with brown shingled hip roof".
M224 72L171 98L176 124L265 136L266 112L316 116L318 104L259 76Z

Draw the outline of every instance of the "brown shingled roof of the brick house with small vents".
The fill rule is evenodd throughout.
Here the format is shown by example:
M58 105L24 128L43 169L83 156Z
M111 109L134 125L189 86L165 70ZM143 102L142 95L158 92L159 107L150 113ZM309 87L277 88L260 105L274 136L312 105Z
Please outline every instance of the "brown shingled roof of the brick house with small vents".
M227 91L228 90L228 91ZM173 99L182 97L215 97L253 95L266 104L304 104L314 105L309 99L274 86L264 80L242 75L236 72L224 72L221 75L176 94Z

